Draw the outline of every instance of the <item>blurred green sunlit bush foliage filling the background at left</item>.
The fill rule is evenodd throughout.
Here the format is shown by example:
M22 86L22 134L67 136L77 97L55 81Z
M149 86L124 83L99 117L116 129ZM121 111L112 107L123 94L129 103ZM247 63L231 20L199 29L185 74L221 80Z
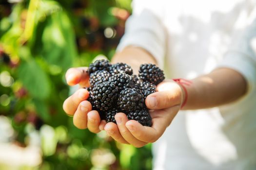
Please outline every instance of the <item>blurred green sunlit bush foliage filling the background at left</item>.
M0 0L0 115L14 143L40 137L41 170L150 170L151 146L79 130L62 110L64 73L113 56L131 0Z

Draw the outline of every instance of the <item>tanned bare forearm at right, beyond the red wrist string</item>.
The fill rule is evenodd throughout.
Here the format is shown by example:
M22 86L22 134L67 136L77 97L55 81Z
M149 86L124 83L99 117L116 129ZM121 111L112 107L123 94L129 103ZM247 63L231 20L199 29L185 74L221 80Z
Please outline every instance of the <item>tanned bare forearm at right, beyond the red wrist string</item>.
M188 100L183 110L203 109L234 102L246 93L246 81L233 69L218 68L185 85Z

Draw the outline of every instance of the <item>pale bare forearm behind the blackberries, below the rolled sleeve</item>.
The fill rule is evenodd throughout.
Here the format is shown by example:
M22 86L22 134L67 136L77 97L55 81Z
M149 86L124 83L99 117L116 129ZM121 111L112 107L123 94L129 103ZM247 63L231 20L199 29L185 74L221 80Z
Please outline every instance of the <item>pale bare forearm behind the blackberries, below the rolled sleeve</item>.
M157 64L156 59L146 50L128 46L122 51L116 53L112 60L112 63L126 63L133 68L134 74L138 74L139 66L145 63Z

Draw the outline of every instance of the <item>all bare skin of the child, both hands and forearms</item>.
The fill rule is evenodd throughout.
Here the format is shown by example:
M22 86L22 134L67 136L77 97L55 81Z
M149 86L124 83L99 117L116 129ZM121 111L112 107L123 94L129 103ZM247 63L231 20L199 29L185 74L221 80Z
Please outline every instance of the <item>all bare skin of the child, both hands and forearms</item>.
M139 57L137 57L139 56ZM134 73L138 73L140 64L157 64L154 57L138 47L127 47L117 53L112 63L123 62L130 65ZM70 68L66 73L68 85L88 86L87 68ZM235 102L246 93L246 81L243 76L230 68L217 68L211 73L199 76L186 85L188 100L182 110L203 109ZM73 116L73 122L79 129L88 128L93 133L105 130L107 134L120 143L142 147L155 142L171 124L180 106L184 102L183 88L172 80L165 80L157 86L158 92L146 98L146 106L151 109L152 127L142 126L135 120L128 120L124 113L115 116L117 124L100 121L98 112L92 110L90 102L86 101L89 94L85 89L79 89L63 103L63 109Z

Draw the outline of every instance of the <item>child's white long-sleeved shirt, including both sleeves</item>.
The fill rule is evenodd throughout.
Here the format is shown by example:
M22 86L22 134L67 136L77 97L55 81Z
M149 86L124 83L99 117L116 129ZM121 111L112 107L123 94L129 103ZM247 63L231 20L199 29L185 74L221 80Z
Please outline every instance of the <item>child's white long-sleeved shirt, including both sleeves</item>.
M154 170L256 170L256 0L134 0L118 51L149 51L167 78L232 68L248 93L179 111L153 145ZM227 80L229 81L229 80Z

